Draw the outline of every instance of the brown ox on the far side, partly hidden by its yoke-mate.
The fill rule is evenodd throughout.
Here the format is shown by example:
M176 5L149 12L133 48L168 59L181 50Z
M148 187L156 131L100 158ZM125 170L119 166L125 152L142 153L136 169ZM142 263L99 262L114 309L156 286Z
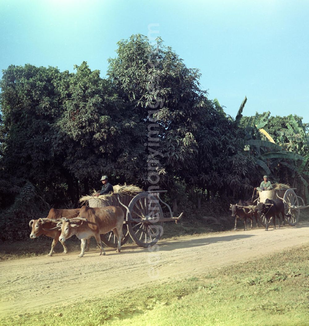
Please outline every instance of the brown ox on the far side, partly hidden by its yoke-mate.
M47 255L47 256L52 256L54 253L54 247L59 240L59 235L61 234L61 231L58 230L59 228L50 229L55 226L55 223L53 224L51 221L48 221L48 220L49 219L58 219L58 218L62 218L62 217L74 218L79 215L79 211L80 211L80 208L76 208L76 209L52 208L49 211L47 218L39 218L38 220L31 220L29 222L29 226L30 226L30 228L32 228L31 234L30 234L30 239L35 239L35 238L39 237L41 234L47 235L48 237L53 238L54 240L52 242L52 248L50 250L50 253ZM60 241L60 242L63 245L63 253L66 254L68 252L67 247L63 241ZM89 246L89 243L88 243L88 246Z

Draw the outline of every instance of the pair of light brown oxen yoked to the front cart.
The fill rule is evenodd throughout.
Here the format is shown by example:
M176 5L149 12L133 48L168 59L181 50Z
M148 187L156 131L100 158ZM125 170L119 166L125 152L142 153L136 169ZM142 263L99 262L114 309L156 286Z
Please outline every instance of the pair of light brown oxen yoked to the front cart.
M81 253L83 257L86 250L89 250L89 239L95 237L101 249L100 255L105 255L100 234L113 231L118 239L116 252L121 250L122 226L124 214L120 207L87 207L77 209L54 209L49 211L46 218L39 218L29 222L31 230L30 238L35 239L41 234L53 238L52 248L47 256L52 256L54 247L58 241L63 245L63 253L68 252L65 241L76 235L81 240Z

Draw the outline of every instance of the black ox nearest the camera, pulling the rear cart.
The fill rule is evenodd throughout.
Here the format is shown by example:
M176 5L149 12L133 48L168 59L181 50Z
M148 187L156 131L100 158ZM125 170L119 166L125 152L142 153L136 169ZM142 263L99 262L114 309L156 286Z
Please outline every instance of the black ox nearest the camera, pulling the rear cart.
M282 214L282 225L284 225L284 217L291 217L290 214L285 214L284 212L284 203L280 199L267 199L265 200L265 203L259 203L258 204L258 213L260 215L265 215L267 219L266 223L266 231L268 231L268 221L270 220L271 217L273 217L274 221L274 229L276 229L276 222L275 218L277 216L279 220L279 228L280 228L280 213Z

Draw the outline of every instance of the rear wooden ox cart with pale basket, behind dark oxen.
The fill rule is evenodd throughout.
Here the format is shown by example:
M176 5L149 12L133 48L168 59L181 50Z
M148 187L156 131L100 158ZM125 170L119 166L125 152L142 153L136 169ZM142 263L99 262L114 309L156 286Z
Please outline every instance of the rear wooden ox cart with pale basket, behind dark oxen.
M273 189L273 190L264 190L259 191L259 197L255 200L257 204L259 202L265 202L266 199L281 199L284 202L285 214L290 215L291 217L287 218L285 216L286 222L290 226L295 226L299 221L300 210L307 208L304 203L304 200L297 196L295 191L296 188L283 188L283 189ZM302 205L300 205L300 201ZM240 206L239 206L240 207ZM243 208L249 208L251 210L257 210L258 206L241 206ZM267 221L266 216L263 214L258 216L259 222L266 227L266 224L270 223L271 219Z

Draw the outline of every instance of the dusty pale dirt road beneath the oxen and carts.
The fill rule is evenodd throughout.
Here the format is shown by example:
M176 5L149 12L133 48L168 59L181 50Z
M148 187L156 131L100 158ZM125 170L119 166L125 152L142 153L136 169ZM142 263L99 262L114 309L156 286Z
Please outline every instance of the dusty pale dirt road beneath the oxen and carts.
M50 309L79 300L100 298L146 284L201 274L207 270L266 256L309 243L309 223L229 231L160 241L155 251L107 248L106 256L90 251L0 263L0 316Z

